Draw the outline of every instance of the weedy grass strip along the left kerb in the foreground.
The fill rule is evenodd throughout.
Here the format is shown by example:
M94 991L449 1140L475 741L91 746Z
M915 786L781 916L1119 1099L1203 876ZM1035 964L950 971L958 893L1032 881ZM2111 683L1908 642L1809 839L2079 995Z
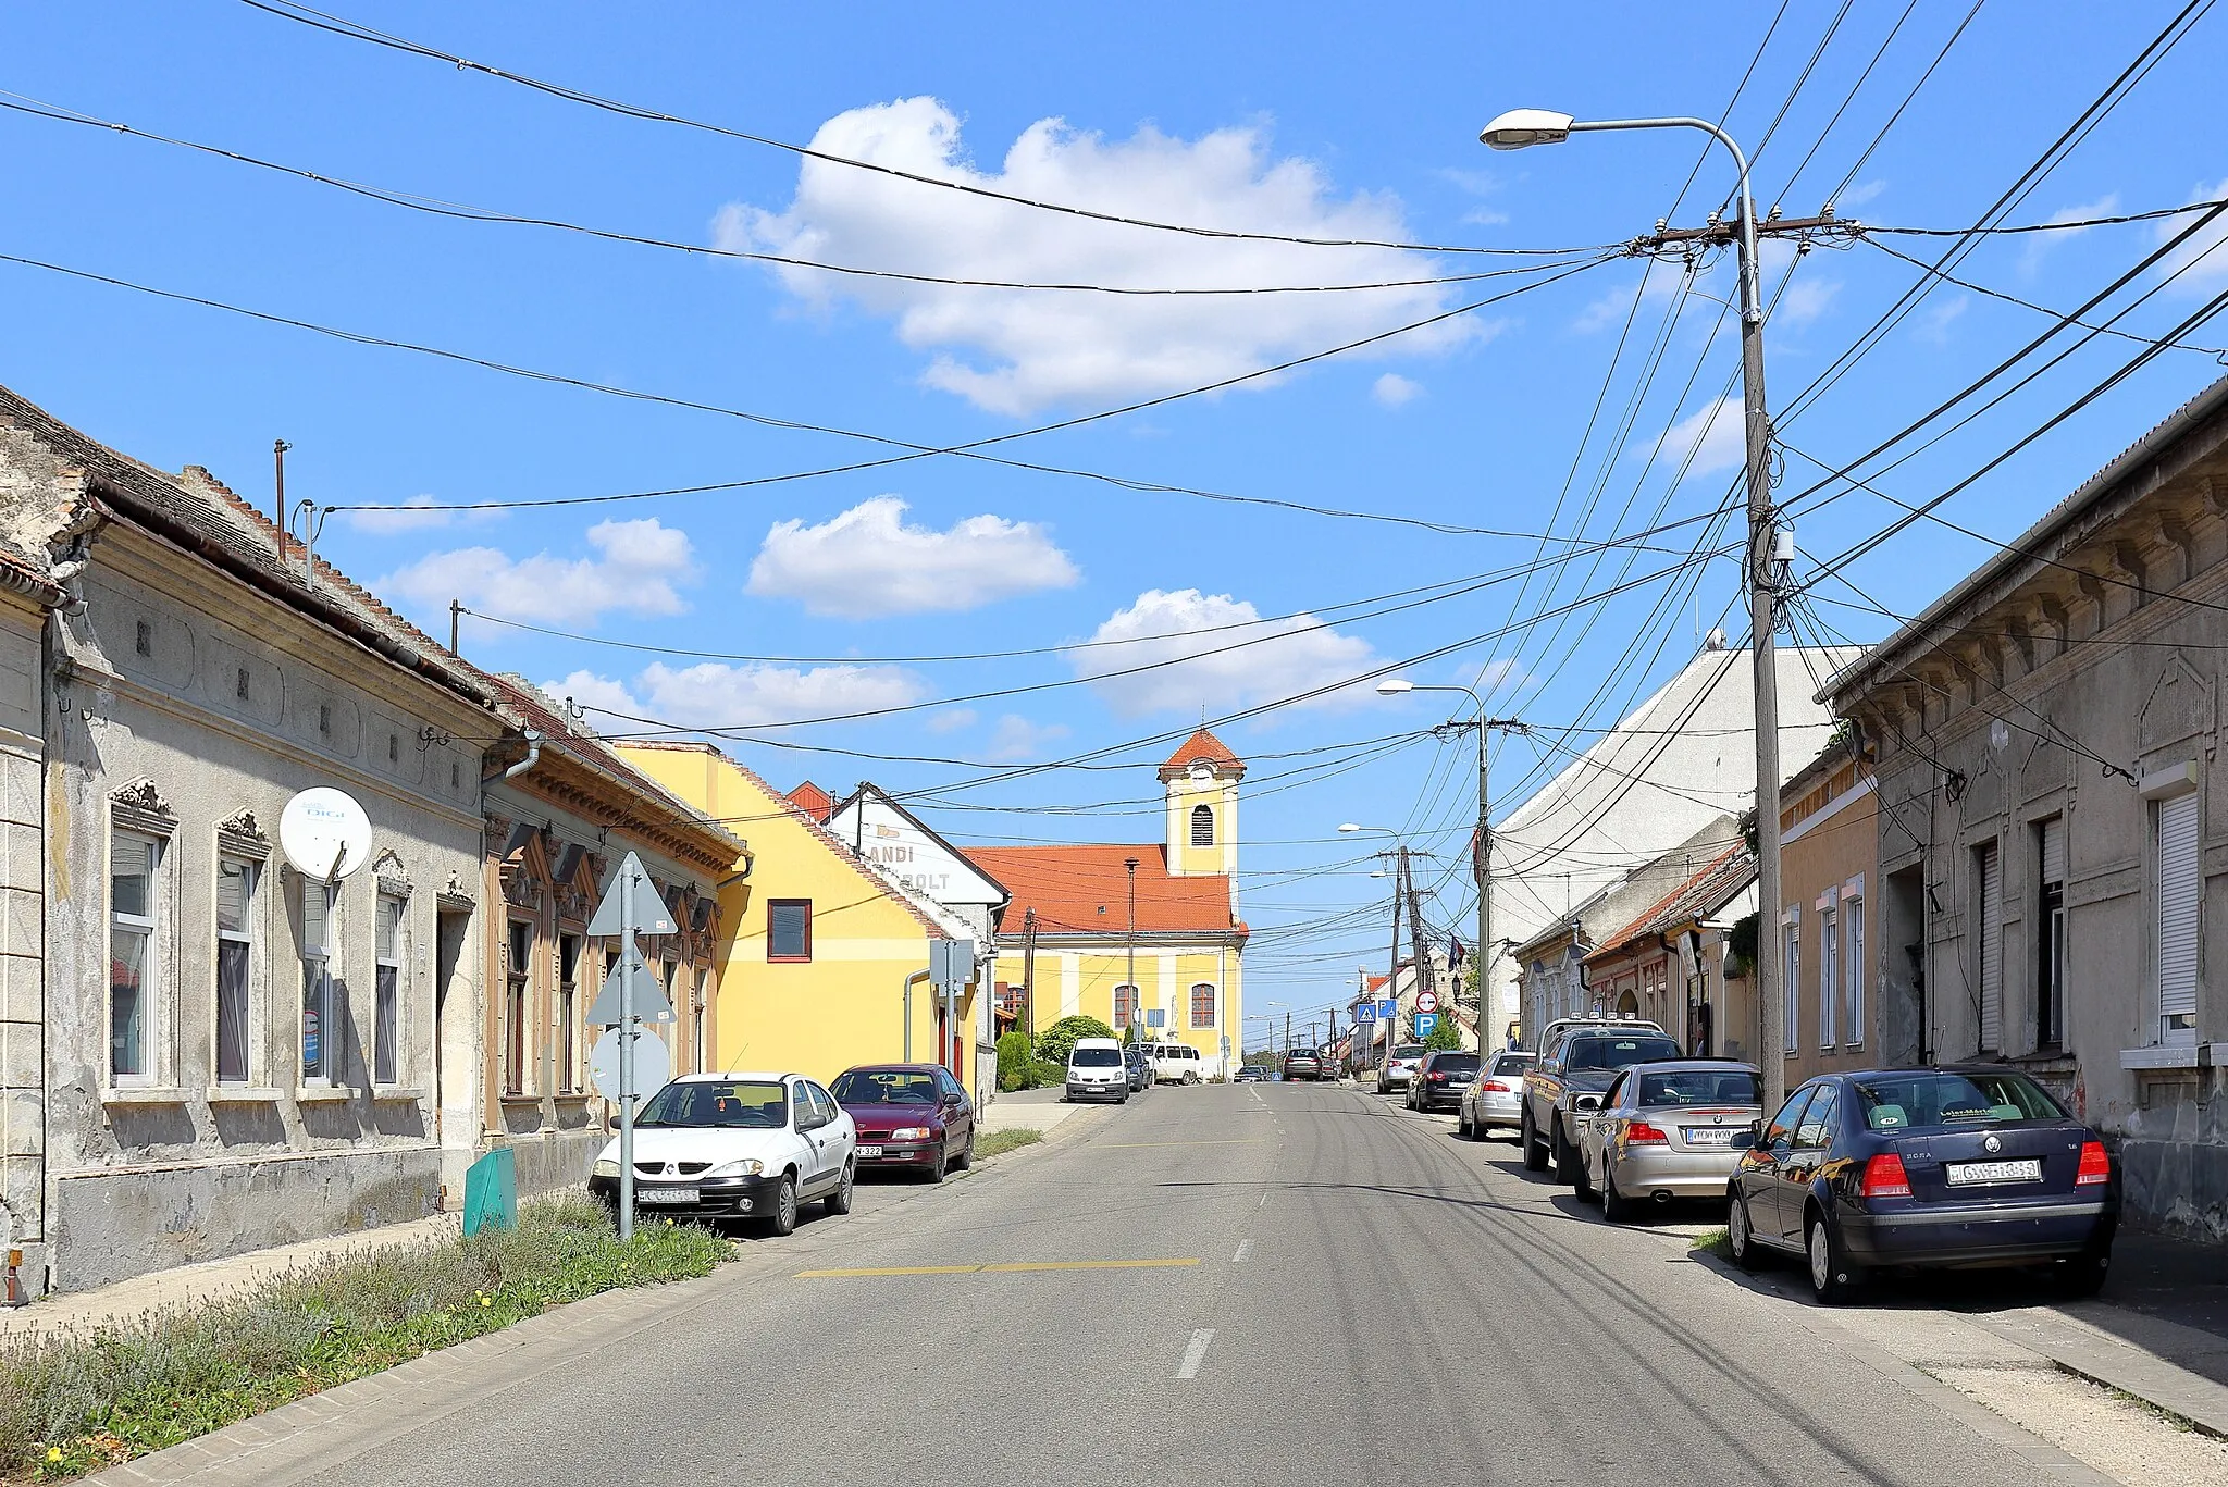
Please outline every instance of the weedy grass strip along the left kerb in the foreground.
M341 1257L207 1306L0 1344L0 1480L51 1483L622 1286L711 1275L733 1244L602 1204L532 1202L510 1233Z

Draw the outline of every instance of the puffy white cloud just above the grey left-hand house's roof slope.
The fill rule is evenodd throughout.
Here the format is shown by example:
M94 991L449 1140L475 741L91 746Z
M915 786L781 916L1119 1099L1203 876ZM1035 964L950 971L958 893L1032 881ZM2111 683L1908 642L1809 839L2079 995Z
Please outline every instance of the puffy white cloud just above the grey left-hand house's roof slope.
M541 551L510 557L501 548L470 546L428 553L372 586L408 606L432 611L463 600L504 620L564 620L584 624L606 611L677 615L688 609L677 584L695 580L688 533L657 517L597 522L588 528L590 557Z

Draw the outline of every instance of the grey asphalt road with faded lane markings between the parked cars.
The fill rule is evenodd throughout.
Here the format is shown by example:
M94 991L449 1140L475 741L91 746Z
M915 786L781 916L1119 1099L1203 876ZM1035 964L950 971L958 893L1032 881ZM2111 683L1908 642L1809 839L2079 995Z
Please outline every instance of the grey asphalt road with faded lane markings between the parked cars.
M330 1487L2099 1480L2039 1471L2032 1438L1831 1315L1689 1260L1684 1233L1609 1228L1513 1146L1457 1141L1352 1086L1163 1088L940 1188L862 1188L851 1217L753 1244L673 1295L686 1302L628 1302L662 1309L655 1324L590 1329L532 1369L530 1349L490 1351L410 1398L432 1360L408 1364L392 1376L405 1393L350 1405L343 1438L232 1471Z

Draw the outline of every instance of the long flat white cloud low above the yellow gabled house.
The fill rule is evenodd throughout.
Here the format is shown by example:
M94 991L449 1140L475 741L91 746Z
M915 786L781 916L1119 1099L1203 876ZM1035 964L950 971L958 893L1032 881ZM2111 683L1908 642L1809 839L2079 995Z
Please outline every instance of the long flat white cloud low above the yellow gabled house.
M633 684L575 671L541 691L570 696L590 711L619 711L680 727L766 727L804 718L907 707L927 696L920 678L898 667L695 667L648 664Z

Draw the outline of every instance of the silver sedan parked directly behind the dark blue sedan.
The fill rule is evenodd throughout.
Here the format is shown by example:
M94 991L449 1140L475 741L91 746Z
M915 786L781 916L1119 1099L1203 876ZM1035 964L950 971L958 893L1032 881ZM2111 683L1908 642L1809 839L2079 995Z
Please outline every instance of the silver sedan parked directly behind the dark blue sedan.
M1611 1224L1638 1219L1642 1202L1722 1199L1758 1117L1753 1063L1635 1063L1580 1124L1577 1195L1600 1195Z

